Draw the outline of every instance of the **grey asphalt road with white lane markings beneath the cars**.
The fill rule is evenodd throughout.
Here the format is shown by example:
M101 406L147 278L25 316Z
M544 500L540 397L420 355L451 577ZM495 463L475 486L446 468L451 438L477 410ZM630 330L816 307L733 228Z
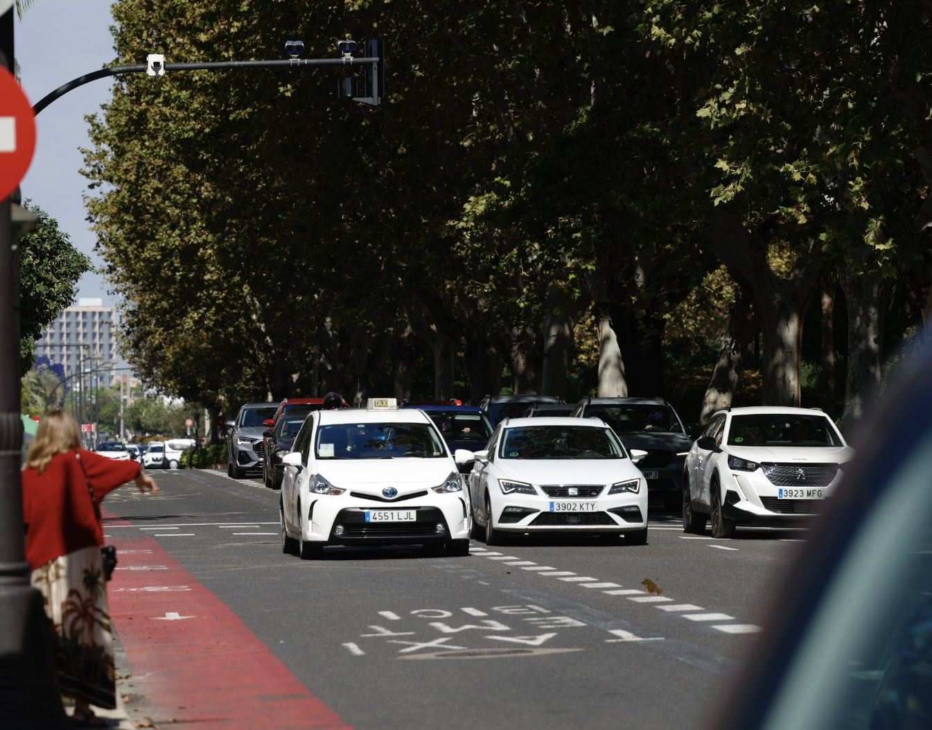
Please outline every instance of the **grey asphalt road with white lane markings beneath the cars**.
M804 537L687 536L651 507L644 546L538 537L473 541L465 558L339 547L306 561L282 554L279 493L261 478L155 476L155 497L108 497L120 520L106 534L158 541L359 730L701 726Z

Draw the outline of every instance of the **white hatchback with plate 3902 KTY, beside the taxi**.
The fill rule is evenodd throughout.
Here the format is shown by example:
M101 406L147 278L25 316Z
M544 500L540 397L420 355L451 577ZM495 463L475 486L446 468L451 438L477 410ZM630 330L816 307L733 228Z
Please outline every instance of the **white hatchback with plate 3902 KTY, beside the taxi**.
M500 544L506 532L551 531L647 543L647 482L601 419L506 419L487 450L458 450L456 461L474 461L475 531L487 544Z

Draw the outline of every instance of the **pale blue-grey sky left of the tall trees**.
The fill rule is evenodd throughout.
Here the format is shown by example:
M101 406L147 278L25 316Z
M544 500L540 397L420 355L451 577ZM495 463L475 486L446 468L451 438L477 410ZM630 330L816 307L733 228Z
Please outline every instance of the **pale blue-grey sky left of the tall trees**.
M34 0L22 20L14 22L16 60L31 103L114 61L109 0ZM93 253L96 239L84 207L89 190L80 173L84 163L80 148L90 146L84 117L109 100L111 83L110 78L91 81L35 117L34 158L20 184L23 199L32 200L57 220L75 248L88 254L98 269L103 261ZM101 297L105 306L117 304L97 272L85 274L78 286L80 297Z

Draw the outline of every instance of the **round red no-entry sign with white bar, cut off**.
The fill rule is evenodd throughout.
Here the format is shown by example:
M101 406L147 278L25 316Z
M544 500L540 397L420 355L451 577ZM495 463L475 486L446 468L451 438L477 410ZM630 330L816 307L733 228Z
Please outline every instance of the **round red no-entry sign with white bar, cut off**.
M33 105L16 78L0 66L0 200L20 185L33 161L34 149Z

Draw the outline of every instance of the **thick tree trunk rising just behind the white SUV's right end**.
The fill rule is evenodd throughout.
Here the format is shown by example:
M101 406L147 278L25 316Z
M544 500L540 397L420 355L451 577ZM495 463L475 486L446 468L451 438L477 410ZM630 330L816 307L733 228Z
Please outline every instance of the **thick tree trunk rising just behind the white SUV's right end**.
M884 315L884 280L875 273L842 276L848 304L848 374L844 381L844 428L850 432L880 395Z

